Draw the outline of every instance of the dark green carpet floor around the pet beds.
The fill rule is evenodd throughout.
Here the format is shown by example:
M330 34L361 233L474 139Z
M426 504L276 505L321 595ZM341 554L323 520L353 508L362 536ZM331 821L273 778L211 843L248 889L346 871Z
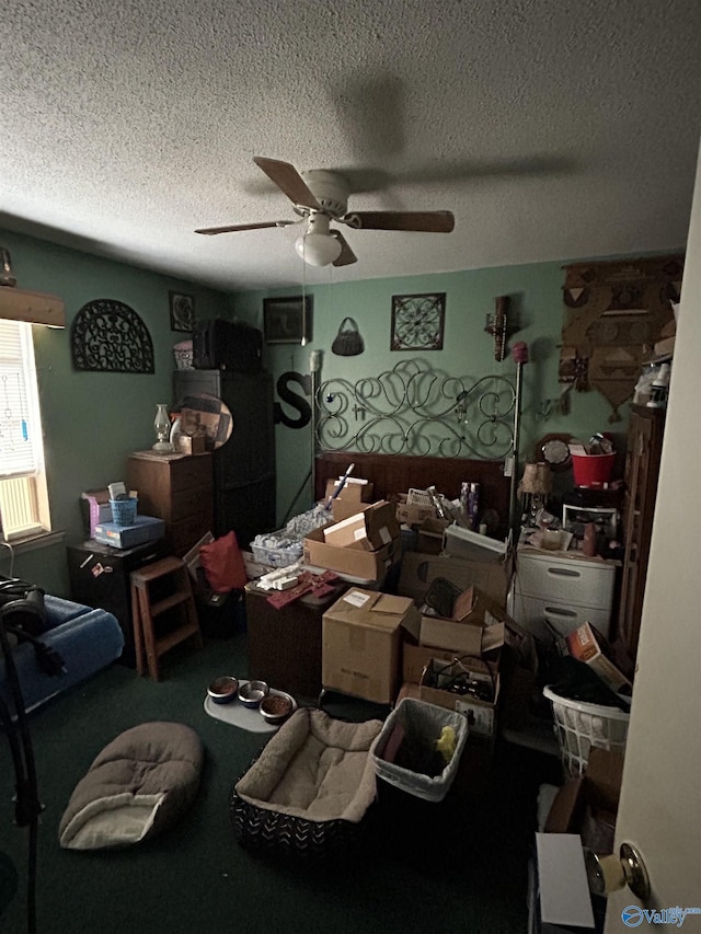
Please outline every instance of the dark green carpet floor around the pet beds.
M267 737L216 720L203 706L215 676L246 677L245 634L209 639L199 652L180 646L162 662L159 683L115 665L30 716L45 805L38 934L526 931L536 798L556 773L552 758L499 742L491 768L479 756L464 759L441 804L381 788L367 833L345 858L255 857L233 835L228 799ZM324 706L345 719L387 713L337 695ZM193 807L161 837L127 850L61 850L61 814L97 752L123 730L156 719L187 724L203 740ZM21 934L28 832L13 825L13 770L1 735L0 743L0 930ZM18 891L5 904L14 874Z

